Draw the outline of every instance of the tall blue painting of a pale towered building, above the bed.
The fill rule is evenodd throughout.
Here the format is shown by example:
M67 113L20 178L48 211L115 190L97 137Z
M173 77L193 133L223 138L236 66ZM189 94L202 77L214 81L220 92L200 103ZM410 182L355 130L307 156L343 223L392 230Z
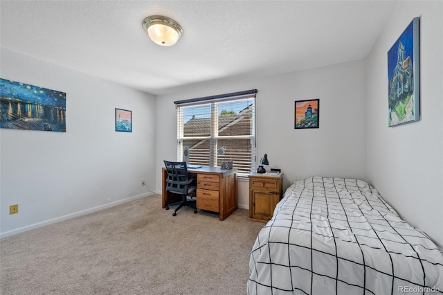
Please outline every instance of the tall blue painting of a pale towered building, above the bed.
M388 127L419 119L419 17L415 17L388 51Z

